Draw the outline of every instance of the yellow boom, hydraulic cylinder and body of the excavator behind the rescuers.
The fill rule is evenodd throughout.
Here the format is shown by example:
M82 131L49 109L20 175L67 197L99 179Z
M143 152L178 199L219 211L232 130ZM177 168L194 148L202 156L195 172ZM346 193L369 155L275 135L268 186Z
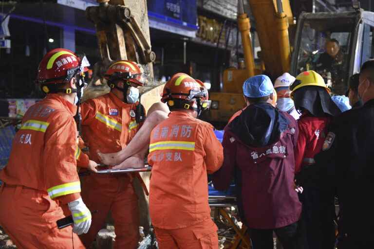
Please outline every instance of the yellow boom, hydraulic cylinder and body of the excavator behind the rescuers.
M256 19L257 32L261 44L261 57L266 71L279 76L290 68L290 44L288 25L293 23L288 0L248 0ZM242 36L245 68L228 68L223 74L221 92L211 92L212 106L205 119L214 124L226 123L239 109L245 106L243 82L262 73L255 68L250 37L250 22L244 13L243 0L238 1L238 27Z

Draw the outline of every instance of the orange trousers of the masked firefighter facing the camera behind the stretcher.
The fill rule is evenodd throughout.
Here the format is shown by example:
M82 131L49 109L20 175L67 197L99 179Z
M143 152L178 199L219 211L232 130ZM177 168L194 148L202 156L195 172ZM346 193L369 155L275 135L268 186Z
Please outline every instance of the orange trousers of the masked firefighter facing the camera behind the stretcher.
M93 175L82 177L82 199L92 214L91 228L80 235L89 247L105 225L108 213L114 220L114 249L135 249L139 241L138 198L131 179L125 175Z

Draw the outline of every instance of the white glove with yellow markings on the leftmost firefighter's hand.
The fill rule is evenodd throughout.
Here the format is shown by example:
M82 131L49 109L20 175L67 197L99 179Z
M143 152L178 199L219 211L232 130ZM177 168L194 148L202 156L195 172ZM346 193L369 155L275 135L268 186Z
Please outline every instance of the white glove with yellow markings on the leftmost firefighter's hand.
M79 197L79 199L69 202L68 206L74 220L73 231L78 235L87 233L91 226L92 217L82 198Z

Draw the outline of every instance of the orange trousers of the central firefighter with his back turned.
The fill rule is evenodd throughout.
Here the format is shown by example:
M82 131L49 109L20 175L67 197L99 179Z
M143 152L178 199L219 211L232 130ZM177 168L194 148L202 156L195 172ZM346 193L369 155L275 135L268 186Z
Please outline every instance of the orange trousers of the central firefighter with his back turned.
M187 228L154 228L160 249L218 249L217 230L211 219Z

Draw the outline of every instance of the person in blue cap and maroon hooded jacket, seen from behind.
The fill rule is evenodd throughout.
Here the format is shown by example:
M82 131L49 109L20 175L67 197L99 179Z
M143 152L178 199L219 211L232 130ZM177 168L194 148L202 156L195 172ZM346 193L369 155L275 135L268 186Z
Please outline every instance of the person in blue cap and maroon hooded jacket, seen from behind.
M243 94L247 107L224 129L224 163L213 175L214 187L225 190L235 178L253 248L272 249L275 231L284 249L302 249L301 203L294 188L298 125L275 108L269 77L247 79Z

